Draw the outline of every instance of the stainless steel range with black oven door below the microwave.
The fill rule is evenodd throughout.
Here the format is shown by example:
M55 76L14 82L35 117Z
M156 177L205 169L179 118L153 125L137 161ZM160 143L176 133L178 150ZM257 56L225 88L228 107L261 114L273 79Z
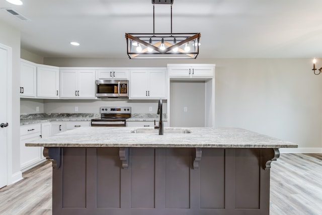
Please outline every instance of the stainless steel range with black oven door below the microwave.
M131 107L101 107L101 117L91 120L92 126L126 126Z

